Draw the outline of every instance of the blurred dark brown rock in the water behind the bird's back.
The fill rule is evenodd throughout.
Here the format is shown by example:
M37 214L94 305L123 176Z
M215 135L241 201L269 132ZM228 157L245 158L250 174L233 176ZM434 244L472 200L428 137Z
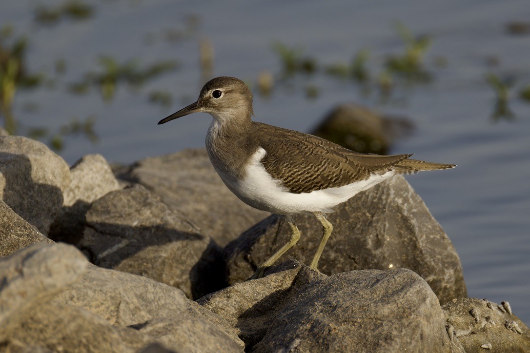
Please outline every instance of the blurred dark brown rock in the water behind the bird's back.
M312 132L326 140L363 153L386 155L396 138L409 135L414 125L408 119L382 116L356 104L340 104Z

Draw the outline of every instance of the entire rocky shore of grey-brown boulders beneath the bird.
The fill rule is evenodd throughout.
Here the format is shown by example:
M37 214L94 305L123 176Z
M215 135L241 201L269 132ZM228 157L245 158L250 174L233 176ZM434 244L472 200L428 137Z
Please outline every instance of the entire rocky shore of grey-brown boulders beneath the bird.
M0 136L0 351L528 352L508 302L468 298L460 259L402 177L330 215L265 277L281 216L239 201L205 150L72 167Z

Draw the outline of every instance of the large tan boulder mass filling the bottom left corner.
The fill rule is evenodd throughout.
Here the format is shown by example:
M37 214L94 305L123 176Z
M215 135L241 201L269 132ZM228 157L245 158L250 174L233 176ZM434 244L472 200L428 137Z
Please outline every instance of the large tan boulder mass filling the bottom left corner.
M242 351L225 319L178 288L90 265L68 245L0 259L2 351Z

